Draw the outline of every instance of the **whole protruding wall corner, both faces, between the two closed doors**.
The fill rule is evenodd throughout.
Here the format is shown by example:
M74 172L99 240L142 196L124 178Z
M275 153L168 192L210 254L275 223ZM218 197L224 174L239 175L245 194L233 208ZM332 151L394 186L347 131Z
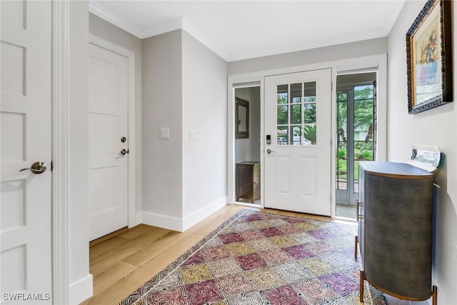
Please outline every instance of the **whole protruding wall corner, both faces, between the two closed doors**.
M227 63L182 30L144 39L142 52L143 211L186 228L226 204Z

